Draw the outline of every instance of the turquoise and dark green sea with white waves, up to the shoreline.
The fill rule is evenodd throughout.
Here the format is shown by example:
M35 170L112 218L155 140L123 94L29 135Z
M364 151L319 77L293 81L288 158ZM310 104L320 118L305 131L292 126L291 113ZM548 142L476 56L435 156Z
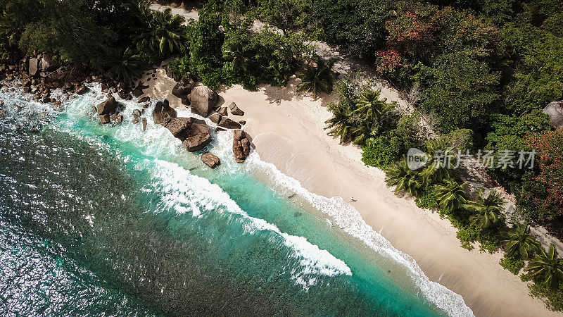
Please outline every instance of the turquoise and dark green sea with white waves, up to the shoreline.
M234 163L229 132L210 170L150 116L146 132L130 123L135 101L121 125L96 123L102 96L58 113L2 94L0 313L471 315L377 232L347 226L341 199L256 154Z

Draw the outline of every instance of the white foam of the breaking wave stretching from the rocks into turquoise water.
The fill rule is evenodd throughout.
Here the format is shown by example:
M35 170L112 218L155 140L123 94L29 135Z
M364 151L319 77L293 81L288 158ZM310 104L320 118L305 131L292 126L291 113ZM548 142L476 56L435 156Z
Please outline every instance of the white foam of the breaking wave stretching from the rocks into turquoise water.
M89 115L92 105L103 101L105 94L100 92L99 84L91 86L93 92L73 99L65 105L65 112L68 116L75 118L84 118ZM117 97L117 96L115 96ZM142 125L133 124L132 111L134 109L142 110L141 104L137 99L125 101L117 98L121 104L125 105L123 122L120 125L100 126L102 132L111 133L113 137L122 142L130 142L140 149L140 151L154 158L176 157L185 158L188 156L182 142L173 137L170 132L160 125L154 125L151 113L156 101L152 101L149 108L144 109L144 118L147 119L147 130L142 130ZM189 116L189 111L179 110L178 116ZM214 141L216 142L216 141ZM127 161L127 157L121 157ZM201 165L201 162L198 162ZM155 159L153 161L144 161L137 164L136 168L149 170L155 181L151 184L151 188L144 188L147 192L158 192L163 202L158 208L173 210L176 213L191 213L194 217L201 217L207 211L219 211L234 213L242 216L244 220L244 229L247 234L253 234L259 230L269 230L275 232L284 241L286 247L291 251L291 257L296 259L300 267L291 268L291 280L296 285L301 285L304 290L308 290L310 286L316 285L319 275L336 276L336 275L352 275L350 268L327 250L320 249L317 245L311 244L305 237L297 237L281 232L276 225L267 223L267 221L248 216L236 202L229 197L218 185L212 184L206 178L193 175L182 166L170 161Z

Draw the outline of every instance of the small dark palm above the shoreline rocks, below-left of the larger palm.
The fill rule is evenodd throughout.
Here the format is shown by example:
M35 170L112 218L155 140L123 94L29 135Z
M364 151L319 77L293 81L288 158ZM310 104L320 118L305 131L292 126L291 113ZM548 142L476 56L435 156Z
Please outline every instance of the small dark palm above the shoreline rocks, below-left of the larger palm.
M130 85L141 73L139 56L130 48L115 49L108 54L108 73L116 80Z

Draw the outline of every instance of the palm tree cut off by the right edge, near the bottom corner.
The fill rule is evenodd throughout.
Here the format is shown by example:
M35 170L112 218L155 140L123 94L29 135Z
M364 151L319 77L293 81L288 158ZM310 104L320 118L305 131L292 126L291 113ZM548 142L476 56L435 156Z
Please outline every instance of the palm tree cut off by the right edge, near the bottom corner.
M557 257L557 250L553 244L548 252L540 247L538 252L528 264L526 271L533 278L541 279L544 285L555 286L563 277L563 259Z

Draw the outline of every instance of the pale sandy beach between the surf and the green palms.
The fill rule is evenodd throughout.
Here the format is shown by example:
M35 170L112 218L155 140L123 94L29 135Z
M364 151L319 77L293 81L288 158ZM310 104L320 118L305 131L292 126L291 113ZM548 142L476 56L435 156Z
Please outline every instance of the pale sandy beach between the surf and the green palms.
M273 163L310 192L346 201L353 197L356 201L350 204L366 223L410 254L432 281L461 294L476 316L558 315L530 297L526 283L498 264L500 252L461 248L448 220L419 209L412 199L397 197L386 187L382 170L362 163L360 148L329 137L324 121L330 117L327 104L334 96L313 100L296 92L297 81L287 87L262 86L256 92L239 85L219 91L222 106L234 101L245 112L229 113L229 118L246 120L244 130L262 161ZM153 99L166 98L171 105L182 106L170 93L175 82L163 69L146 84L145 92ZM398 98L385 87L382 95L389 101Z

